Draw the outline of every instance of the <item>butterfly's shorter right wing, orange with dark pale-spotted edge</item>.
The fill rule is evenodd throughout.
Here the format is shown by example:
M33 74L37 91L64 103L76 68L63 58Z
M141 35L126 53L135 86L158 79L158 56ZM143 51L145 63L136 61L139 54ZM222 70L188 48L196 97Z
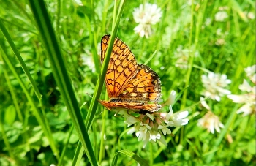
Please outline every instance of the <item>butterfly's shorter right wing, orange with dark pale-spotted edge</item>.
M120 94L123 101L157 102L161 97L161 81L156 72L144 64L138 64L138 73Z

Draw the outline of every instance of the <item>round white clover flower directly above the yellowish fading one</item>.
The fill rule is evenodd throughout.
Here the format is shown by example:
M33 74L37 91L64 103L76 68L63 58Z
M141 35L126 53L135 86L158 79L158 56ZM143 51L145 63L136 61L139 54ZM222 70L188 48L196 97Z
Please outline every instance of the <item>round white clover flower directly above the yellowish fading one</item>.
M202 75L202 82L205 88L203 92L205 97L210 97L219 102L220 97L231 94L229 90L225 89L225 87L231 83L231 80L227 79L227 75L209 72L208 75Z

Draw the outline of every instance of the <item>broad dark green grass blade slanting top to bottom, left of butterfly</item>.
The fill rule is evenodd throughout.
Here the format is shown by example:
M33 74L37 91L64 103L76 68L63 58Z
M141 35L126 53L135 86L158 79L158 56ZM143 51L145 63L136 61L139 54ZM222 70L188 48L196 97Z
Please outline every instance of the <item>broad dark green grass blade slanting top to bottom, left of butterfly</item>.
M57 42L53 31L45 3L42 0L29 0L29 4L34 14L39 34L42 37L42 44L47 50L47 56L53 69L53 76L56 80L56 84L61 92L61 97L63 97L64 103L67 106L67 110L69 111L74 127L78 132L78 137L83 148L85 148L89 162L91 165L97 165L94 151L91 147L91 141L86 127L83 124L83 117L78 107L78 101L75 98L75 93L69 80L69 75L67 74L67 67L65 67L61 49L59 48L59 43Z

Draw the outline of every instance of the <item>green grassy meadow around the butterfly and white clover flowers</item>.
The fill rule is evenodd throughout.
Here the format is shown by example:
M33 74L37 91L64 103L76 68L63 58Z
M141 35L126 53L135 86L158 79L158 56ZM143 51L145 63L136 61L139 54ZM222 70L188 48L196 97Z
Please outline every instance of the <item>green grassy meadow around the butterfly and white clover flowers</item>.
M41 2L1 1L0 165L255 165L255 112L237 114L241 104L226 96L206 99L224 127L213 134L197 125L208 112L200 104L202 75L227 75L232 94L249 82L244 69L255 64L255 1L124 1L116 36L157 72L164 101L172 90L181 94L173 111L189 111L186 126L170 127L167 146L146 148L127 134L124 118L91 104L100 93L99 43L116 25L121 1L47 0L47 12ZM146 2L162 11L148 38L135 33L132 15ZM219 11L227 17L218 20ZM105 93L103 87L100 99Z

